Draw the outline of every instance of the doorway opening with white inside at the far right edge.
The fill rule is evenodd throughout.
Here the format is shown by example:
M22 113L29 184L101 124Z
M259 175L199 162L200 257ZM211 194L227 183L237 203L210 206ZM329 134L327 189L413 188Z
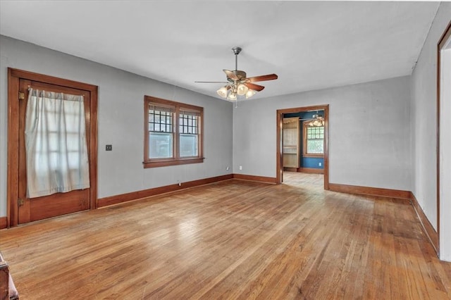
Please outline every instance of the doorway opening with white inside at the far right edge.
M451 261L451 23L438 42L437 78L437 234L440 259Z

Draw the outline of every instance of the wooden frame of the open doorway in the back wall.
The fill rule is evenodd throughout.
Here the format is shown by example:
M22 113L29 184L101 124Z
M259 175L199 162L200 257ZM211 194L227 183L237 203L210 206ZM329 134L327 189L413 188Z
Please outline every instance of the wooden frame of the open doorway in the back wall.
M276 183L282 183L283 151L282 151L282 122L284 113L299 113L304 111L324 111L324 189L329 189L329 105L304 106L277 110L276 117Z

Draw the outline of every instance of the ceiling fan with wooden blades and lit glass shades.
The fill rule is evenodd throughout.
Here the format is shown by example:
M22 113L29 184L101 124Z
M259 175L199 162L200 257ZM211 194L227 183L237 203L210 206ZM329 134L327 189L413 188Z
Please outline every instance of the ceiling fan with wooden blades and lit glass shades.
M260 92L265 87L262 85L256 85L253 82L276 80L278 76L276 74L260 75L254 77L246 77L246 72L238 70L238 54L241 52L240 47L233 47L232 51L235 54L235 70L223 70L226 73L227 81L196 81L198 83L226 83L223 87L216 92L219 96L226 98L230 101L237 100L237 96L246 96L246 99L254 96L257 92Z

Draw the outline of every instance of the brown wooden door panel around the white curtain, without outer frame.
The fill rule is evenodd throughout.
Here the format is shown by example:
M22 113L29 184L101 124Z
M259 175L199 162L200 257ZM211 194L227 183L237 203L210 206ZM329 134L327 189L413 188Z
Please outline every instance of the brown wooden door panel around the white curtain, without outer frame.
M19 91L24 93L19 101L19 170L18 170L18 223L27 223L44 218L51 218L56 215L85 211L90 207L90 189L79 189L66 193L56 193L49 196L37 198L27 198L27 167L25 156L25 111L27 107L28 89L43 89L49 92L63 92L66 94L84 96L85 105L85 125L89 132L90 122L90 94L82 89L73 89L58 85L50 85L43 82L31 80L19 80ZM87 148L89 149L90 135L87 137ZM88 151L89 156L89 151ZM91 157L89 156L89 164ZM92 186L92 185L91 185Z

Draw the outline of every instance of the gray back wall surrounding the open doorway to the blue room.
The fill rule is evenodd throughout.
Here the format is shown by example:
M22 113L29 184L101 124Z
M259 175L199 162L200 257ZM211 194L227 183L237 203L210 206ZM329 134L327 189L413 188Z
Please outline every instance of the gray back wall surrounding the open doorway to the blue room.
M330 105L331 183L411 189L409 76L240 102L233 173L276 177L276 111L321 104Z

